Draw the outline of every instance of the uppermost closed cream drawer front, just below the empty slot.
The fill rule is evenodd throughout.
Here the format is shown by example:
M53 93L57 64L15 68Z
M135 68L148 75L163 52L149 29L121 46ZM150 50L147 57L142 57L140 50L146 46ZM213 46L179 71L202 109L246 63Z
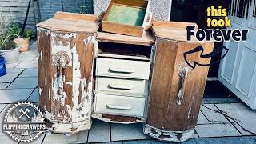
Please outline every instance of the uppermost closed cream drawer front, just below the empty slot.
M97 76L149 79L150 62L97 58Z

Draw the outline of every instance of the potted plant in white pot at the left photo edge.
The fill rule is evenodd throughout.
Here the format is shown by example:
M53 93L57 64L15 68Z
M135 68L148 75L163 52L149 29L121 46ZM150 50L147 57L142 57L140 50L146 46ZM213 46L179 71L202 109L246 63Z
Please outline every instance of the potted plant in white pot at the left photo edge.
M11 37L18 37L17 34L6 34L0 38L0 53L6 63L18 62L19 47L11 40Z

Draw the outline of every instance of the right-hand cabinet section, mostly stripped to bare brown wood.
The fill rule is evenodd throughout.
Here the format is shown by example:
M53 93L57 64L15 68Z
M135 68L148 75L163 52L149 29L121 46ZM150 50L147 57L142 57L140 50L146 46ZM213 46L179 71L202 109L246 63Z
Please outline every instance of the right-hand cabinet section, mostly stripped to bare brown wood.
M206 85L208 66L192 69L183 54L197 46L209 54L214 42L187 42L186 25L194 24L156 22L152 26L156 50L144 133L161 141L184 142L193 138ZM196 53L188 61L206 64L210 58L200 58Z

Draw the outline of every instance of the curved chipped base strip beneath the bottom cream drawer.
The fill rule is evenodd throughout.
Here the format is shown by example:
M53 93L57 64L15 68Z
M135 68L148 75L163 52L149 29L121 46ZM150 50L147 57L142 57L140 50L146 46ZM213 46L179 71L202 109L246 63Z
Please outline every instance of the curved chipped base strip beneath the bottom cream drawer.
M99 119L103 122L110 123L121 123L121 124L131 124L145 122L145 118L136 118L129 116L120 116L120 115L109 115L109 114L92 114L92 118Z

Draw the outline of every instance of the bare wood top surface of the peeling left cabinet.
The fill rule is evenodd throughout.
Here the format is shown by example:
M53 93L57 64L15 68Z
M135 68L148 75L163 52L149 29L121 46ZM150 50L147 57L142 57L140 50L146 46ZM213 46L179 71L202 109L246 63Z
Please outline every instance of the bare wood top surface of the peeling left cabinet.
M50 18L44 22L38 23L37 26L49 30L94 33L98 31L98 25L99 22L97 21Z

